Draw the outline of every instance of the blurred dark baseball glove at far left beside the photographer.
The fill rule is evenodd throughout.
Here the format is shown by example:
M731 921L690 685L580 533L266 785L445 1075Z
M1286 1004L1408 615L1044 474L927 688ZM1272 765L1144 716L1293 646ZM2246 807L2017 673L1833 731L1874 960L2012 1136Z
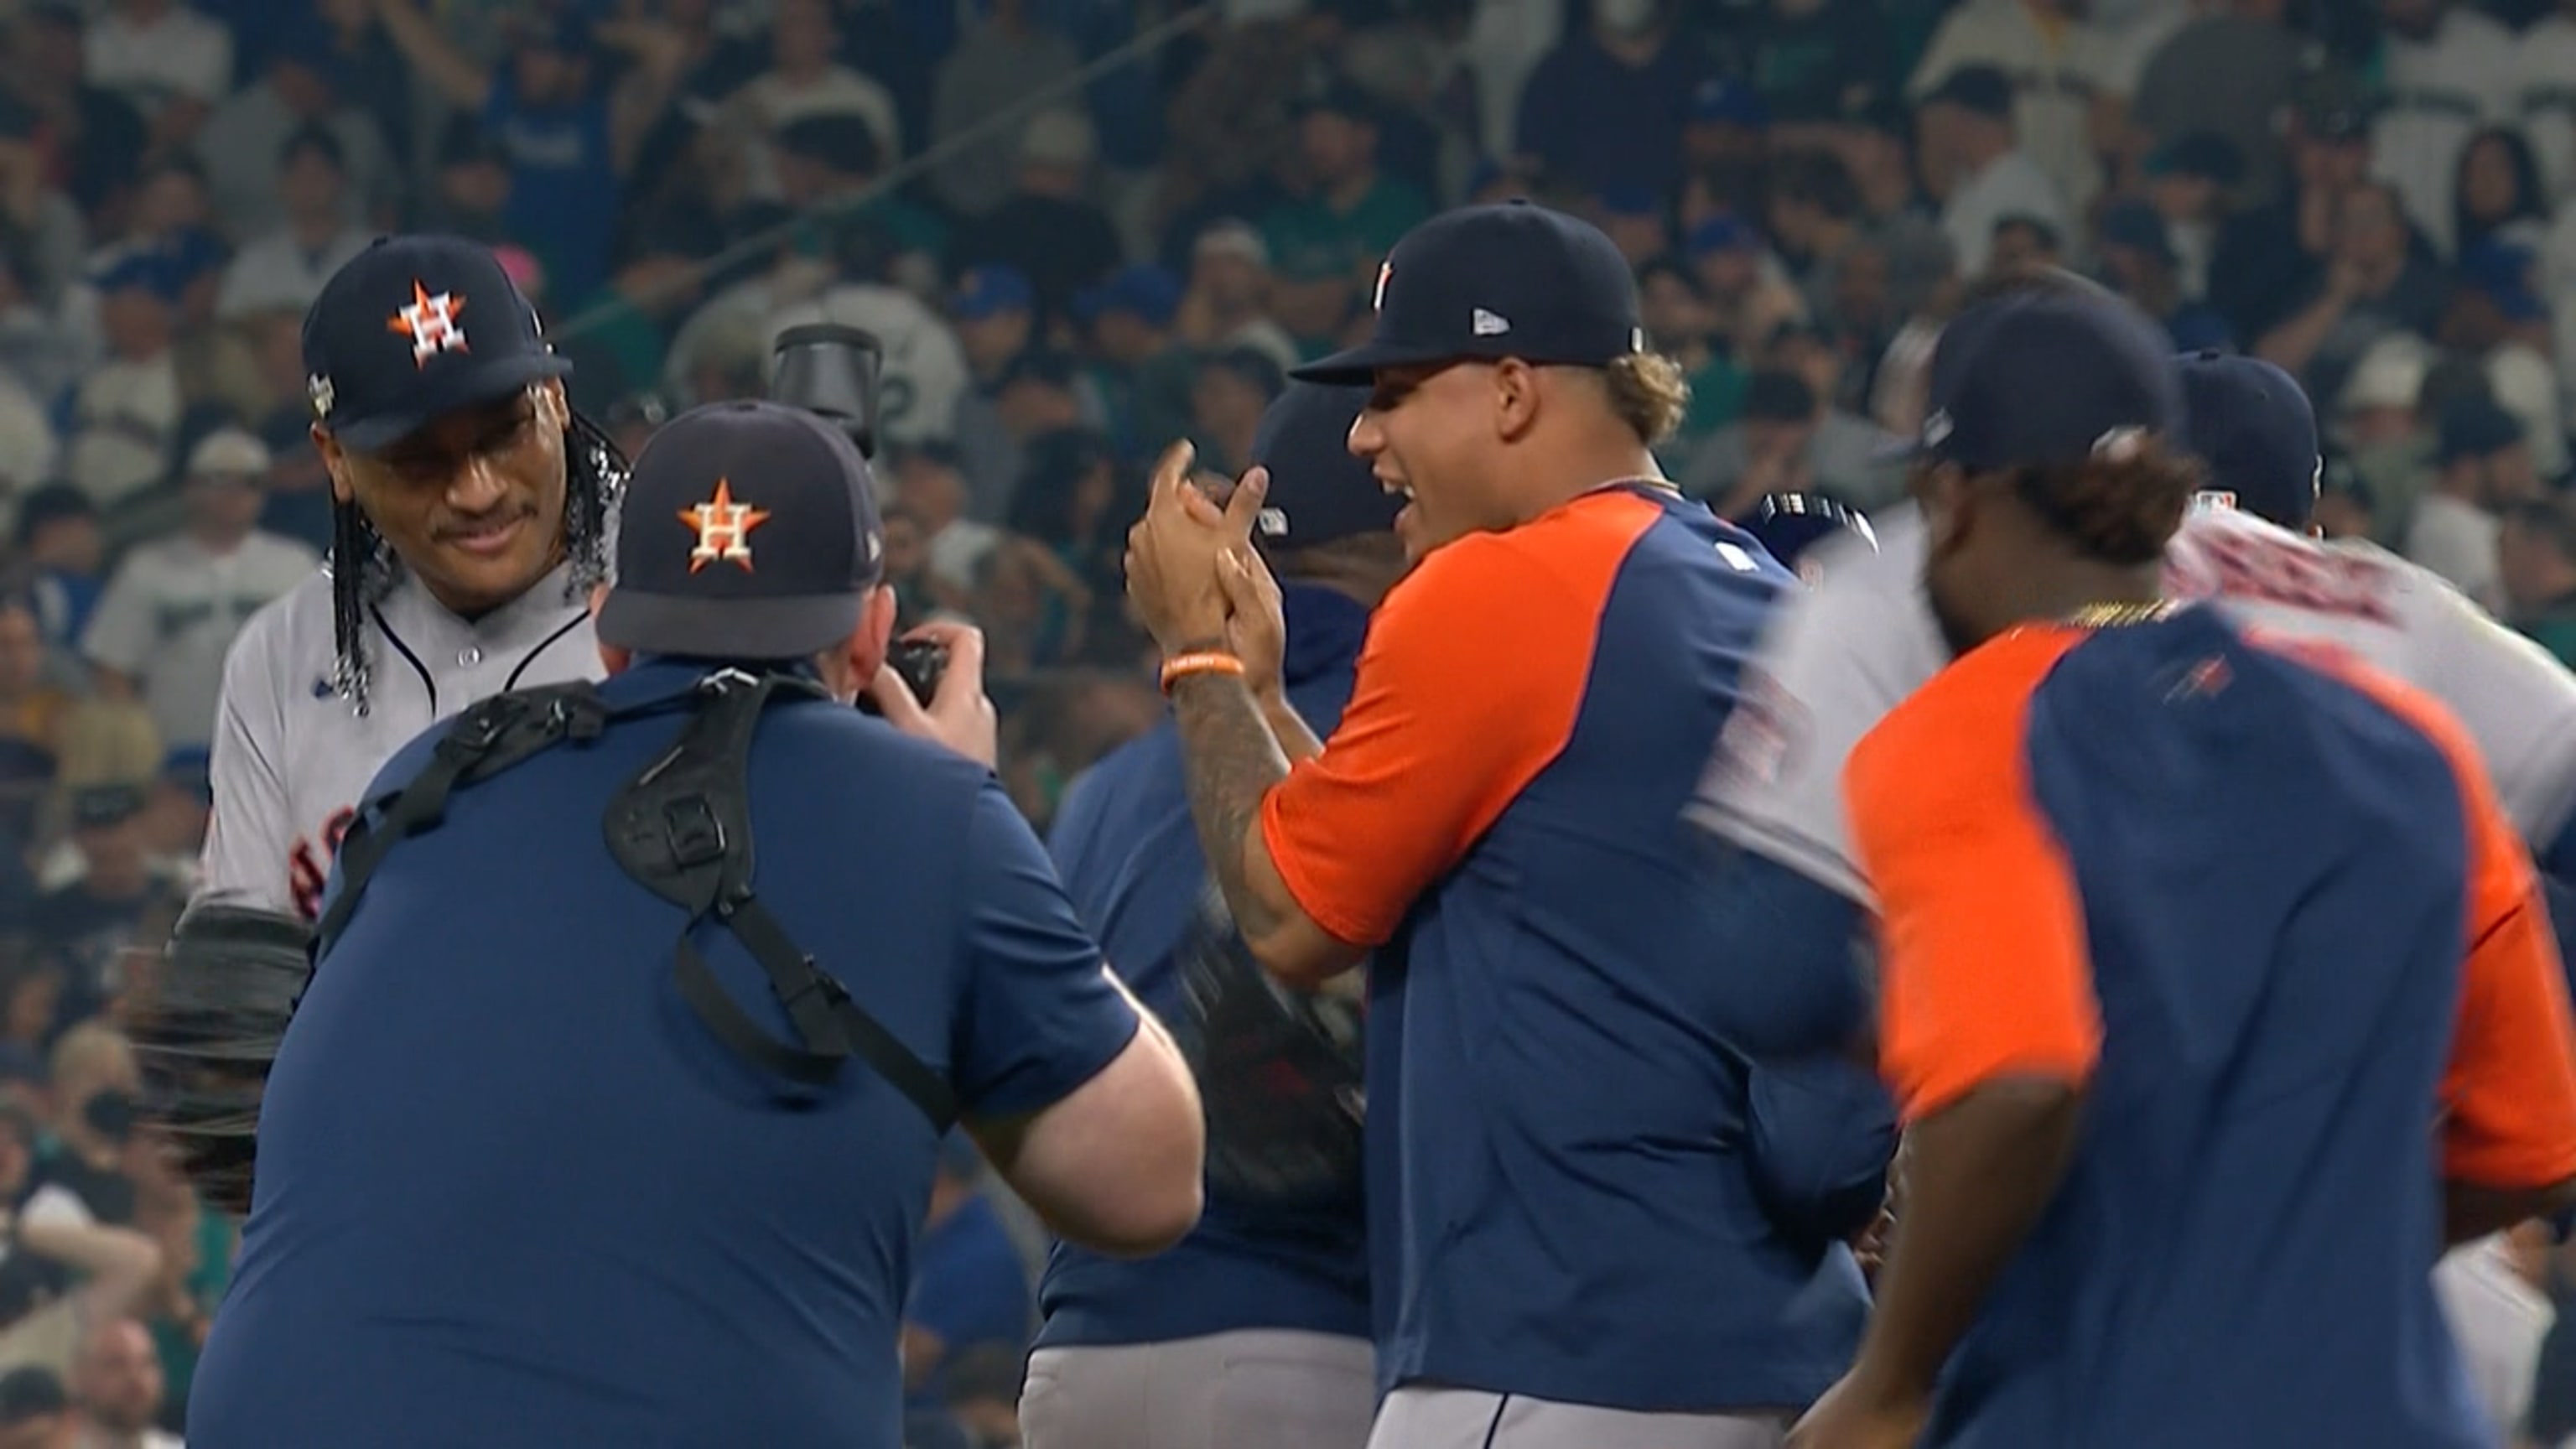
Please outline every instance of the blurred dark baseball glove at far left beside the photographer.
M134 1026L144 1101L204 1199L250 1212L260 1093L312 977L312 926L250 905L180 915Z

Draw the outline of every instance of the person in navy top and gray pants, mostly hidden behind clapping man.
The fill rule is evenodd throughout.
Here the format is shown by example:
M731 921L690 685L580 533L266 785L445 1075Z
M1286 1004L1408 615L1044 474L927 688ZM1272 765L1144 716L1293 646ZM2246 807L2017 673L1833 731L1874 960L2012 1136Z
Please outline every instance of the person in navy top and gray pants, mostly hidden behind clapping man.
M1404 575L1396 498L1342 446L1365 400L1293 382L1252 441L1270 480L1255 541L1288 621L1280 704L1319 732L1342 717L1368 616ZM1167 722L1082 776L1048 846L1110 962L1177 1018L1188 987L1175 954L1208 879L1177 730ZM1030 1449L1360 1449L1378 1395L1350 1189L1262 1201L1211 1183L1198 1230L1146 1261L1059 1245L1020 1400ZM1257 1421L1239 1408L1255 1392L1267 1405Z

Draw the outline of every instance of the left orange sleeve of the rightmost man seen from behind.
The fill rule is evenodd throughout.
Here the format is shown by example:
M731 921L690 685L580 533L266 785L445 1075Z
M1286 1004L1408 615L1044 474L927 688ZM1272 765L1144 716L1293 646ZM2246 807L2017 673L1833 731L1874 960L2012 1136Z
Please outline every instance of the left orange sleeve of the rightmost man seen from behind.
M1906 1122L1999 1075L2081 1083L2102 1055L2084 902L2030 792L2030 694L2084 634L1953 663L1852 750L1844 802L1878 890L1880 1075Z

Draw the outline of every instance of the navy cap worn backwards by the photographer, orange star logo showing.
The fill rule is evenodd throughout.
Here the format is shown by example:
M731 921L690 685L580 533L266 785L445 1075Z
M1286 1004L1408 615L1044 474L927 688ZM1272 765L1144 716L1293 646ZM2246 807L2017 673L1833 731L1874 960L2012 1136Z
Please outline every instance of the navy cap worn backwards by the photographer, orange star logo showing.
M598 634L644 655L801 660L858 629L886 572L868 462L781 402L665 423L626 477L616 539Z

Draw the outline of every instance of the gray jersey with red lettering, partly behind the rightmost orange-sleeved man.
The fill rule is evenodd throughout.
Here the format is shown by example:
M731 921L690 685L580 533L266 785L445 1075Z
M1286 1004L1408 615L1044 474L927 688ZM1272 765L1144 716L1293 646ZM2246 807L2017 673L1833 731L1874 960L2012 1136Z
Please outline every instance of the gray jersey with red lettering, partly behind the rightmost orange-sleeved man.
M1922 516L1906 505L1873 523L1875 554L1860 539L1808 554L1819 578L1772 616L1690 807L1700 828L1862 905L1842 766L1950 663L1922 593ZM2202 503L2166 549L2166 593L2218 598L2257 634L2347 650L2447 704L2527 841L2550 841L2576 815L2576 676L2429 570Z

